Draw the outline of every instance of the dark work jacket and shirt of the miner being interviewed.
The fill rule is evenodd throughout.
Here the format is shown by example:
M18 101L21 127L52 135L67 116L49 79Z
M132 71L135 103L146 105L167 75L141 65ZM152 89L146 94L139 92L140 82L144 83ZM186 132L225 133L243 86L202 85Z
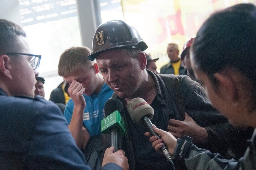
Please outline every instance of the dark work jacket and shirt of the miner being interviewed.
M167 131L169 119L180 120L175 102L176 92L172 85L173 88L169 94L159 75L151 71L148 71L148 73L153 77L157 89L157 96L151 103L154 109L154 116L151 121L158 128ZM171 74L164 76L170 78L175 77L175 75ZM231 141L233 141L234 136L237 134L237 129L211 106L206 98L205 90L199 83L191 80L188 76L181 76L180 83L184 97L185 111L197 124L206 128L208 132L209 143L200 147L212 150L213 152L221 152L225 155ZM123 101L116 93L114 93L113 98ZM169 99L169 102L166 99ZM170 163L163 155L154 150L148 137L144 135L148 130L143 126L134 124L126 108L123 119L127 127L125 138L120 138L120 149L125 151L130 168L138 170L170 169ZM104 148L110 146L109 136L103 136L103 145ZM181 168L177 166L176 169Z

